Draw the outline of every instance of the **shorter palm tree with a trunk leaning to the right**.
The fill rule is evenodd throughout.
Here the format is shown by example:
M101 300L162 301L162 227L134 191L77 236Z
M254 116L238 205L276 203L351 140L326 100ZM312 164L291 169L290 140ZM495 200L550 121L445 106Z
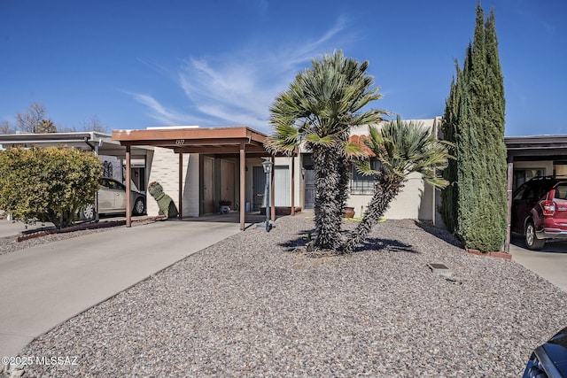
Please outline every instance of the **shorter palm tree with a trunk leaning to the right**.
M398 116L381 129L369 127L369 137L364 143L379 167L373 169L368 158L356 167L361 174L374 176L375 192L361 222L346 239L345 252L353 251L369 235L392 199L403 189L409 174L422 174L423 180L436 188L447 186L447 181L439 178L436 170L447 166L448 143L439 141L421 123L402 121Z

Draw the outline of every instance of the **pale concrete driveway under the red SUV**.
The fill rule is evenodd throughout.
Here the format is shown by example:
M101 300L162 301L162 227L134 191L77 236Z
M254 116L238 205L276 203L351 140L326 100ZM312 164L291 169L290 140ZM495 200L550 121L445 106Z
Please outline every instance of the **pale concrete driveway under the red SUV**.
M567 242L546 243L541 251L530 251L522 238L513 237L510 253L512 260L567 292Z

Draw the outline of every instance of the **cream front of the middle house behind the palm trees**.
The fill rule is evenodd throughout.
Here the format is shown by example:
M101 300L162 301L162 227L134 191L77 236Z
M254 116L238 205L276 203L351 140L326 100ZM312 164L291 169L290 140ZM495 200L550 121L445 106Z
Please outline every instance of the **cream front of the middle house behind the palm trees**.
M423 127L431 130L437 135L440 118L430 120L416 120ZM379 127L379 126L378 126ZM230 127L226 127L230 128ZM235 127L237 128L237 127ZM172 135L164 138L161 143L154 139L155 133L167 133ZM141 143L153 143L152 149L147 155L147 182L158 181L164 191L172 198L179 207L183 216L198 217L201 215L219 212L219 204L229 201L233 211L257 212L266 204L266 174L262 162L270 158L267 151L255 151L252 155L245 155L244 184L240 184L240 159L237 150L229 150L224 147L219 150L214 147L213 140L219 139L219 143L229 141L222 135L214 136L215 129L198 127L163 127L144 130L121 130L113 133L113 138L128 137L130 141L136 140L136 145ZM139 131L138 136L136 132ZM177 134L175 134L175 131ZM181 147L172 146L171 143L188 143L179 135L183 133L208 133L211 140L205 141L203 137L198 138L198 144L192 144L189 150L203 150L203 152L180 153ZM267 135L252 130L264 140ZM352 135L368 135L369 127L356 127ZM151 135L151 136L148 136ZM184 134L189 135L189 134ZM207 138L209 137L207 136ZM147 139L144 142L144 138ZM184 136L185 138L187 136ZM136 139L137 138L137 139ZM174 139L171 139L174 138ZM127 141L128 143L128 141ZM160 144L162 144L160 146ZM209 146L210 150L206 150ZM276 208L298 207L301 209L312 209L315 203L315 173L311 151L304 146L299 148L299 153L294 157L276 156L272 158L273 167L273 205ZM243 191L241 196L241 191ZM349 198L347 205L353 207L354 217L361 217L369 200L374 194L374 183L368 176L358 174L351 167L351 179L349 181ZM439 203L439 192L423 181L420 174L411 174L400 195L392 202L390 209L384 214L386 219L416 219L429 220L434 223L440 221L437 212ZM148 200L148 214L156 215L159 212L157 203Z

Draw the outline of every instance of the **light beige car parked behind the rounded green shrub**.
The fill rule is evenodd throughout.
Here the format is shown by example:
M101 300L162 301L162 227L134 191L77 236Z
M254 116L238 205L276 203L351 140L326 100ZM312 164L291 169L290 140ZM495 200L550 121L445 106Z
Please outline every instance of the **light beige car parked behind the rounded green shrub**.
M132 214L142 215L145 212L145 194L137 190L131 190ZM126 212L126 186L119 181L109 177L103 177L98 181L98 213L125 213ZM89 204L81 209L82 220L95 220L97 208L95 204Z

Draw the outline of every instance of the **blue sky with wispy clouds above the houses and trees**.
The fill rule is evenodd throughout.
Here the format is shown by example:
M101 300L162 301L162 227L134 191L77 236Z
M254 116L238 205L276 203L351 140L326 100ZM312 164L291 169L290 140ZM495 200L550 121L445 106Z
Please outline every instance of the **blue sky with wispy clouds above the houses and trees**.
M404 119L442 115L472 40L477 0L0 0L0 121L37 102L59 127L110 130L245 125L269 133L268 107L312 58L369 61ZM506 135L567 134L567 2L494 7Z

